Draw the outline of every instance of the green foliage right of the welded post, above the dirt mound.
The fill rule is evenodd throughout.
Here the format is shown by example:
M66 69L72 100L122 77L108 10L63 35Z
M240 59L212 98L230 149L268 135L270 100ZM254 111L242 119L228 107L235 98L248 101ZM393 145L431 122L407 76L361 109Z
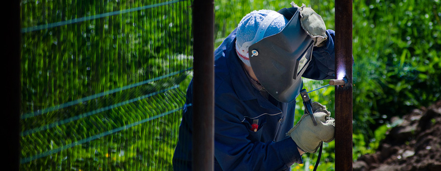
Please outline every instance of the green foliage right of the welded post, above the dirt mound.
M373 130L392 116L439 99L439 5L354 2L354 133L366 143L377 140Z

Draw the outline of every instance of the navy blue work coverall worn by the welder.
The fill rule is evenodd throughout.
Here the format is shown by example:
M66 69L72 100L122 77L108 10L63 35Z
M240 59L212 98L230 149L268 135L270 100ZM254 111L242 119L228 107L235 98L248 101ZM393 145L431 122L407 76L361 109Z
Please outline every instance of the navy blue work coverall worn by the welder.
M312 61L303 77L335 78L335 32L327 30L326 35L325 45L314 47ZM293 163L303 162L296 143L285 135L293 127L296 100L285 103L271 95L269 99L261 95L240 63L235 42L236 29L214 51L214 169L289 170ZM175 171L191 170L192 85L193 81L187 90L173 156ZM254 132L250 128L256 120L259 128Z

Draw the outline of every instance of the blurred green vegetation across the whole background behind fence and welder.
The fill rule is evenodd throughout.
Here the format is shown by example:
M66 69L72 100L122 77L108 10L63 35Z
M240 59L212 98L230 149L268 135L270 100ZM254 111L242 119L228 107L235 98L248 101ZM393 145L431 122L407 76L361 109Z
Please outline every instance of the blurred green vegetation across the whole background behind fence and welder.
M215 47L247 13L290 2L216 0ZM334 1L294 2L335 29ZM151 8L122 12L145 6ZM23 28L117 12L23 32L21 169L171 170L191 79L191 1L28 0L21 7ZM374 152L396 124L392 117L440 99L439 8L439 0L353 1L354 159ZM305 88L325 84L306 80ZM334 112L333 87L310 97ZM72 100L78 104L53 108ZM41 112L47 108L53 110ZM296 110L300 118L303 105ZM333 170L334 150L325 144L320 169ZM309 170L315 159L304 155L305 163L292 169Z

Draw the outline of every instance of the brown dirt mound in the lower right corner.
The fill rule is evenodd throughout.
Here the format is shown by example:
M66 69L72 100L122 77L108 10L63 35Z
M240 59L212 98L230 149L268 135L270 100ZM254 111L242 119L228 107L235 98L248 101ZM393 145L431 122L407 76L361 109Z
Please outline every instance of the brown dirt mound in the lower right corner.
M441 100L392 122L399 124L388 130L376 153L353 163L354 171L441 170Z

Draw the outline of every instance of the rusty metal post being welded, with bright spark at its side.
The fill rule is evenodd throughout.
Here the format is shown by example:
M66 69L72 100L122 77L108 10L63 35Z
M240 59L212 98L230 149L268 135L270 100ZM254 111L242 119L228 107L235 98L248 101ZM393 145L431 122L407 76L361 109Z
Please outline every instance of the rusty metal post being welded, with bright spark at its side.
M352 170L352 0L336 0L336 79L347 77L349 86L335 86L336 170Z

